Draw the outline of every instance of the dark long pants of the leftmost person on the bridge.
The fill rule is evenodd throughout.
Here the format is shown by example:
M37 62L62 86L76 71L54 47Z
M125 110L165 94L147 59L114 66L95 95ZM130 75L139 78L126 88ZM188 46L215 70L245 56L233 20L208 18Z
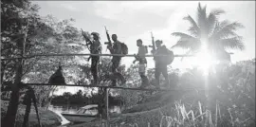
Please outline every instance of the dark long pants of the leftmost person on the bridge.
M93 76L93 84L97 84L98 83L98 63L100 60L99 56L92 56L91 57L91 73Z

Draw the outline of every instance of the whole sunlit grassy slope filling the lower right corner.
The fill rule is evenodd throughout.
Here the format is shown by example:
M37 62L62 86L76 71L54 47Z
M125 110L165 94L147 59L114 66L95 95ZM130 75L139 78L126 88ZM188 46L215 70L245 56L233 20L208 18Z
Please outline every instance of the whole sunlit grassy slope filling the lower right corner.
M179 87L203 88L201 73L179 79ZM187 82L189 81L189 82ZM236 63L208 77L208 91L178 95L161 108L139 110L111 123L112 127L254 127L255 61ZM177 96L177 95L176 95ZM170 98L162 96L161 98ZM152 99L152 98L150 98ZM161 99L161 100L164 100ZM150 101L150 100L149 100ZM147 104L154 103L152 99ZM140 104L143 105L143 104ZM145 106L145 107L143 107ZM146 108L144 104L142 108Z

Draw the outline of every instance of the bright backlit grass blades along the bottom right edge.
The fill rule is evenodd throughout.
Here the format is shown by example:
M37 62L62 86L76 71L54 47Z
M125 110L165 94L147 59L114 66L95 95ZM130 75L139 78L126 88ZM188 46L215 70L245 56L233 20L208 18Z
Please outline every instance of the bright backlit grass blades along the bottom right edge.
M195 106L195 105L194 105ZM185 105L180 101L175 102L174 116L162 116L160 127L252 127L255 122L252 118L237 118L236 111L228 108L229 114L221 112L219 102L216 102L215 112L209 109L203 110L202 103L198 101L197 110L186 109ZM164 125L164 121L166 125Z

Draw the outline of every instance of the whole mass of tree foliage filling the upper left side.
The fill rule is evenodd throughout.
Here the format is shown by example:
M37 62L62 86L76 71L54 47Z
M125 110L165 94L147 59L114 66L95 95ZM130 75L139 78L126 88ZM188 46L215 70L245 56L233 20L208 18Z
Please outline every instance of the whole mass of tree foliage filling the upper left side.
M19 50L22 47L25 47L24 55L78 53L85 47L82 44L80 31L71 24L74 22L73 19L57 21L50 15L41 17L38 15L39 7L27 2L24 3L24 7L16 7L15 2L7 1L1 5L2 58L20 56ZM62 63L66 70L67 67L74 65L76 59L76 57L27 59L23 62L23 82L47 82L50 75L56 70L58 63ZM16 63L14 60L1 62L1 82L13 82ZM64 73L64 77L67 82L72 80L67 73ZM56 90L56 86L40 86L34 87L34 89L40 105L45 106L49 95Z

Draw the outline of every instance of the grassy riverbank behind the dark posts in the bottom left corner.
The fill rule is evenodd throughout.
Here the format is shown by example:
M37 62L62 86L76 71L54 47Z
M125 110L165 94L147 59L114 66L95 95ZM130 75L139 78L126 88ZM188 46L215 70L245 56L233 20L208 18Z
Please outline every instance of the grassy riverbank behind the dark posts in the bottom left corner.
M8 109L8 101L1 100L1 118L2 118L1 123L3 123L3 118L6 116L7 109ZM16 127L22 126L24 116L25 116L25 111L26 111L26 105L19 104L17 116L16 116ZM39 111L40 122L42 124L42 127L56 127L62 124L62 121L63 121L62 118L56 113L50 110L46 110L44 108L38 108L38 111ZM38 126L38 120L37 120L36 112L33 106L31 106L28 123L29 123L29 127Z

